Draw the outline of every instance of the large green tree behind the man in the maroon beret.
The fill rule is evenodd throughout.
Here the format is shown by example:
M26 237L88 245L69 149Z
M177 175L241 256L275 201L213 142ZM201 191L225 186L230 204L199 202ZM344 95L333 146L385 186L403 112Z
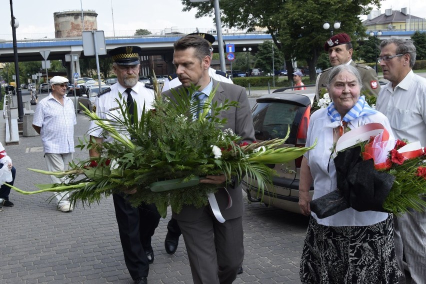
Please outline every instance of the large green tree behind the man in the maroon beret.
M195 17L212 15L213 3L181 0L183 11L196 8ZM329 30L324 30L325 21L340 21L338 31L344 31L356 40L365 33L358 15L366 15L372 6L380 6L379 0L232 0L220 1L222 23L252 31L255 27L266 28L272 41L283 52L289 76L293 72L292 59L304 59L309 67L309 76L315 77L315 65L319 54L324 52L324 42ZM273 7L273 8L272 8Z

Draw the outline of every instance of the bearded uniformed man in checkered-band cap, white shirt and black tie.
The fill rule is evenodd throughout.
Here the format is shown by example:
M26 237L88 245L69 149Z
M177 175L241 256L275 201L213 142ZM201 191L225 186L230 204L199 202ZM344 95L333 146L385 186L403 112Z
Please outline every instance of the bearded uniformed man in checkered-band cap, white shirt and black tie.
M119 93L127 102L130 114L134 102L137 105L137 113L142 113L144 104L145 108L151 106L154 100L152 87L149 88L138 81L141 52L142 50L138 46L122 46L108 52L114 61L112 68L117 75L118 82L97 95L93 111L100 118L111 119L117 116L118 103L116 100L121 101ZM114 115L109 115L114 112ZM137 122L137 117L130 119ZM88 133L90 139L95 139L99 144L102 143L104 137L102 129L99 129L94 121L90 121ZM106 137L106 140L112 140L112 138ZM89 155L97 157L100 153L92 148L89 150ZM154 261L151 236L158 226L160 215L154 204L141 204L133 207L126 200L124 194L114 193L112 198L125 264L134 284L146 284L149 263Z

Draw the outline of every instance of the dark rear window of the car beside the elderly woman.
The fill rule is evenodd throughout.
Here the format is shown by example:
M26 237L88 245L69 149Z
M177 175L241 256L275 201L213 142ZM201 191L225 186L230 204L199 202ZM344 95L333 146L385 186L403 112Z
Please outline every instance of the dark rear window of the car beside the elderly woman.
M285 102L257 103L252 109L256 139L284 138L288 127L290 127L290 136L286 143L294 144L305 108L305 106Z

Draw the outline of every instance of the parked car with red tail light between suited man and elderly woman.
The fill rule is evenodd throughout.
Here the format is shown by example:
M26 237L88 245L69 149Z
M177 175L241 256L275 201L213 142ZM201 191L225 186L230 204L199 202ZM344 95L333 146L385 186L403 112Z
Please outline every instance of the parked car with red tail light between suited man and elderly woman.
M257 98L251 109L256 141L284 138L289 127L290 135L282 146L304 146L314 95L314 88L300 91L289 89ZM282 164L270 164L277 176L273 177L273 186L264 191L262 201L265 204L300 213L298 186L301 160L302 157L299 157ZM250 201L259 201L255 177L246 175L242 188ZM313 194L313 186L309 193Z

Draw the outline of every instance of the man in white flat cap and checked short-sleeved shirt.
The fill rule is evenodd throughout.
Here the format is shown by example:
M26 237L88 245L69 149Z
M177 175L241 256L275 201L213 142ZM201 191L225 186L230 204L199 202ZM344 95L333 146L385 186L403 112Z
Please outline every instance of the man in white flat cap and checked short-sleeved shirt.
M32 127L40 134L43 142L47 170L58 171L69 168L74 152L74 104L65 96L68 79L54 76L50 79L52 91L37 104ZM53 183L61 183L63 178L50 175ZM57 209L71 212L74 208L68 201L68 193L56 192L54 200Z

